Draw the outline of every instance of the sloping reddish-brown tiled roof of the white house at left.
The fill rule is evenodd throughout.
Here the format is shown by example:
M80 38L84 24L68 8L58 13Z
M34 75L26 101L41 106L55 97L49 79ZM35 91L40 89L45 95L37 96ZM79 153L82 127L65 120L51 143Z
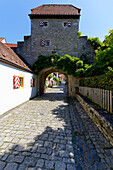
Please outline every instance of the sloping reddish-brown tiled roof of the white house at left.
M32 72L31 69L19 58L19 56L2 42L0 42L0 61Z

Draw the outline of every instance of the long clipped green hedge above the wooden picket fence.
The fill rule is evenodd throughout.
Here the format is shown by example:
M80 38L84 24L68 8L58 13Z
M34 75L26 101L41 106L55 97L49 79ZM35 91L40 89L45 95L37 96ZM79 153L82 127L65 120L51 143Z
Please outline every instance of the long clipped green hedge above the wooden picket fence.
M80 86L111 90L113 89L113 73L82 78L80 79Z

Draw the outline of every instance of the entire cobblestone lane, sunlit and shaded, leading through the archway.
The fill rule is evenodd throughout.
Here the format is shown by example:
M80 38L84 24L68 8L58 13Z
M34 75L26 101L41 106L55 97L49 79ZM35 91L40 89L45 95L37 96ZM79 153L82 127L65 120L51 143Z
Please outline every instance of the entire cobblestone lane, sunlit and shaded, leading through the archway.
M110 170L112 146L63 87L0 120L0 170Z

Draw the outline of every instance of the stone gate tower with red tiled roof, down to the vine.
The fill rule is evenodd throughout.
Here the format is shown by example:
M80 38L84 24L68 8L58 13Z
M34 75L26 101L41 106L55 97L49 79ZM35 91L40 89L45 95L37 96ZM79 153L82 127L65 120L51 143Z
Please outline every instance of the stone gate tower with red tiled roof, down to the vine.
M80 11L73 5L42 5L31 9L31 36L24 36L24 42L18 42L16 53L31 66L40 54L76 57L85 54L92 60L94 50L87 37L77 37Z

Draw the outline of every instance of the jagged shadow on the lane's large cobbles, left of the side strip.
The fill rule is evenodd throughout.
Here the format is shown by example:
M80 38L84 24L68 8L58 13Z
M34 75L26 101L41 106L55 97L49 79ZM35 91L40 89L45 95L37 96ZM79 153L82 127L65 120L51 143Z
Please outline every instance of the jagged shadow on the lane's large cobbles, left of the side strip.
M67 107L68 105L60 105L52 110L52 114L56 115L58 121L62 121L62 128L58 128L57 125L54 128L45 126L44 132L32 139L33 142L31 140L26 144L15 143L11 144L10 148L8 146L6 151L0 155L0 170L75 170Z

